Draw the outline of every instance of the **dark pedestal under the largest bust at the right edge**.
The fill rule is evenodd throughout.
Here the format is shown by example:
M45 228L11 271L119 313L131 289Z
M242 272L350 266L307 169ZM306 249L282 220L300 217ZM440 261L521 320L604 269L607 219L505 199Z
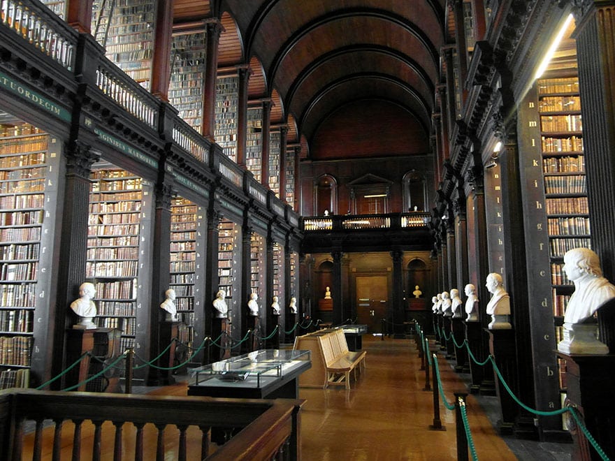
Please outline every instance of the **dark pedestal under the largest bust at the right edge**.
M607 457L615 460L615 355L557 355L566 363L567 402L577 406L589 433ZM569 424L574 442L572 459L601 460L574 420Z

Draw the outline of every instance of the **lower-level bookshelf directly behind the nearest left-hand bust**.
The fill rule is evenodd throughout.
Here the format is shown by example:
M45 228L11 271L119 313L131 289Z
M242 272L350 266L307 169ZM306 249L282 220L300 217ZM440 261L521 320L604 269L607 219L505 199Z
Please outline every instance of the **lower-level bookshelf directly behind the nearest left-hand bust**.
M146 240L141 213L149 209L151 184L108 164L95 166L90 179L86 277L96 286L94 322L122 330L125 350L136 342L140 244Z

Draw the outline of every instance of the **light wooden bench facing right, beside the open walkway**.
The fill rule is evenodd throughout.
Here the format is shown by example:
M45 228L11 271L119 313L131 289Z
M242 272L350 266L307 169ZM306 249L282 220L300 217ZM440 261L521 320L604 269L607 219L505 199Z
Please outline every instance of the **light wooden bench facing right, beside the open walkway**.
M342 330L333 330L331 334L320 336L319 343L326 364L327 379L325 388L329 385L350 388L350 373L356 381L356 370L365 368L366 351L349 351L346 337Z

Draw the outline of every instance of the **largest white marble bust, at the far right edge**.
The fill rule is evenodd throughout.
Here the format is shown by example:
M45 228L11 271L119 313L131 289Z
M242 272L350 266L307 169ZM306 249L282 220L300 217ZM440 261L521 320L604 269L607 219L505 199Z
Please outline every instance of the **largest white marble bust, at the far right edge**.
M564 339L558 351L574 354L607 354L609 348L598 341L598 325L593 315L605 302L615 298L615 286L602 277L600 259L588 248L574 248L564 255L564 272L574 283L564 315Z

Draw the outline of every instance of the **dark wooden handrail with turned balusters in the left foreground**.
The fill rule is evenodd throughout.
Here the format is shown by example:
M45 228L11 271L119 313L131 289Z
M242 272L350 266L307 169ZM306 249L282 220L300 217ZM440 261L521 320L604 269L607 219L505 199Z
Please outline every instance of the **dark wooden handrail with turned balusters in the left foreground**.
M28 389L0 391L0 453L7 460L22 457L24 423L36 422L34 452L41 452L43 420L52 420L56 426L66 420L75 422L75 431L80 430L78 422L91 420L99 432L101 425L110 421L116 427L116 444L121 444L122 425L132 423L143 427L151 423L164 431L167 425L180 430L180 460L185 452L186 427L196 426L201 437L207 439L211 427L237 432L215 453L202 454L203 459L212 460L266 460L300 458L298 440L298 418L303 400L245 400L216 399L212 397L174 397L157 395L124 395L100 393L66 393ZM96 444L96 432L94 443ZM119 432L120 437L117 437ZM136 431L136 437L140 437ZM194 437L194 436L190 436ZM77 440L78 437L73 437ZM64 438L65 439L65 438ZM159 440L162 438L159 437ZM54 444L59 444L59 439ZM136 439L133 446L142 446ZM198 441L203 447L205 440ZM73 448L75 446L73 445ZM54 447L54 450L57 447ZM159 447L160 449L161 447ZM120 453L117 446L117 453ZM206 450L206 448L205 448ZM73 459L80 459L79 454ZM185 453L184 453L185 455ZM140 453L143 456L143 453ZM139 459L138 453L124 453L124 459Z

